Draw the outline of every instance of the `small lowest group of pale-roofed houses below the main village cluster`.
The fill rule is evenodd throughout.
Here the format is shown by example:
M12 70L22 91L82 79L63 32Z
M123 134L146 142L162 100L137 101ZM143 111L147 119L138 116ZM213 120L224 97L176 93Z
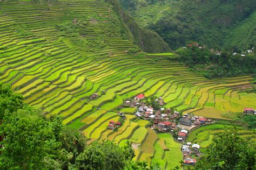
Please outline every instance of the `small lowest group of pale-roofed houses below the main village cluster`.
M197 159L191 158L192 155L195 157L200 157L201 153L199 151L200 145L186 143L182 146L181 152L183 153L183 164L185 165L196 165Z

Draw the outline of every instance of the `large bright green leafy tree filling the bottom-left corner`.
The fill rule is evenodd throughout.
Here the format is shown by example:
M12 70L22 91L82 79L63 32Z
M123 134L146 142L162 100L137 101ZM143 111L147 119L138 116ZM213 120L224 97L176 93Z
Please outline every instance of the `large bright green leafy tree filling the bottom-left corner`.
M59 145L43 118L36 112L18 110L4 120L5 139L1 150L1 169L39 169L53 146Z

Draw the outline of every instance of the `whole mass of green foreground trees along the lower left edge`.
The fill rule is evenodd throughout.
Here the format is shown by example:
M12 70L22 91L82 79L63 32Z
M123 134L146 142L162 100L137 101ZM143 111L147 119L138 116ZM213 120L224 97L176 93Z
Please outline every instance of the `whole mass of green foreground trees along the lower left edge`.
M0 84L0 169L145 169L132 161L134 151L112 141L86 146L82 132L46 119L41 110L23 103L10 86Z

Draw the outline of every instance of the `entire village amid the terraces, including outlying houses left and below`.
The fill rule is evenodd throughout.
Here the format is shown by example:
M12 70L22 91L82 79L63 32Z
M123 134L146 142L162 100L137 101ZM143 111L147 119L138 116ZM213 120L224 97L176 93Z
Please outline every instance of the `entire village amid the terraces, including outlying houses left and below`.
M161 97L152 96L146 98L144 94L139 94L131 100L126 100L124 107L136 108L136 115L140 119L150 122L150 127L156 133L171 133L174 140L181 143L185 165L195 165L197 157L200 157L200 146L198 144L186 143L188 133L200 125L214 123L206 117L193 116L190 114L182 115L176 109L164 108L164 100ZM110 121L107 129L116 130L122 125L125 114L119 112L119 121Z

